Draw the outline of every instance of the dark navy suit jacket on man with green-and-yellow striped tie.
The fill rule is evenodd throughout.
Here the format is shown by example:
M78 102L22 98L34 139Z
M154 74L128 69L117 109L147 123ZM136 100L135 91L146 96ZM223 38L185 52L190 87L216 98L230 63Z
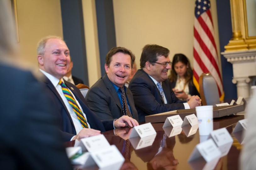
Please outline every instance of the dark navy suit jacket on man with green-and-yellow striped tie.
M66 108L62 98L60 97L59 93L57 92L56 88L53 86L52 82L45 77L45 85L48 89L48 94L53 98L54 104L53 106L56 108L56 114L61 119L61 125L60 129L62 131L62 134L66 141L70 141L70 139L76 135L75 126L74 123L70 117L70 113L68 109ZM101 132L105 131L104 126L106 125L106 128L108 129L109 122L102 122L98 119L98 117L85 105L85 99L83 98L83 95L81 94L80 90L76 88L76 86L70 82L64 81L66 86L72 91L72 93L75 95L75 98L81 105L83 112L86 114L87 122L89 122L90 127L92 129L100 130ZM112 122L112 129L113 128L113 122Z

